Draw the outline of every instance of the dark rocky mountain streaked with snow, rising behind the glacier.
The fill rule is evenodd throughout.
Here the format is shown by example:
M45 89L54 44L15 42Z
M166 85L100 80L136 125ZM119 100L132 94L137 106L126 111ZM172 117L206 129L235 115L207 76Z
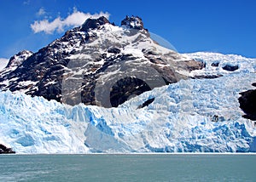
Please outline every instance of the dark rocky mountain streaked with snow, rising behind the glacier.
M112 107L204 66L154 42L139 17L127 16L121 26L100 17L37 53L16 54L0 72L0 88L68 105Z

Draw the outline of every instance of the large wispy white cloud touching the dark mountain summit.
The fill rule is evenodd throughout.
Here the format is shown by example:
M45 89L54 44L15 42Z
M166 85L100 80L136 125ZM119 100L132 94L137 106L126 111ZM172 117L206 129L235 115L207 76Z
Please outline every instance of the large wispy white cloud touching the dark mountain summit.
M73 9L73 14L69 14L65 19L62 19L59 16L52 21L49 21L47 19L36 20L30 26L34 33L43 31L46 34L52 34L54 31L64 31L65 27L80 26L84 23L85 20L89 18L99 18L101 16L105 16L108 19L109 15L110 14L108 14L108 12L100 12L99 14L84 14L83 12L80 12L77 9Z

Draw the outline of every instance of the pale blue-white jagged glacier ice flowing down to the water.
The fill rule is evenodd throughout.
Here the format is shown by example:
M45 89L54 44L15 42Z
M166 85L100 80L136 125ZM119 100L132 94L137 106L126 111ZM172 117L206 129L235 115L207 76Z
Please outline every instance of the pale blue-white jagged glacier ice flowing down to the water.
M206 62L181 80L117 108L64 105L19 92L0 92L0 143L16 153L255 152L256 123L243 118L239 93L254 89L256 60L213 53L184 54ZM212 56L212 57L211 57ZM237 64L224 71L212 62ZM145 101L153 103L138 109Z

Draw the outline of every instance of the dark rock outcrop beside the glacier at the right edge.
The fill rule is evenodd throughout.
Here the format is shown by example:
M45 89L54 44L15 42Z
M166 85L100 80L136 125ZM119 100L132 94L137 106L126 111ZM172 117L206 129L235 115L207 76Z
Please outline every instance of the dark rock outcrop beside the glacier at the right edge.
M243 117L256 121L256 89L240 93L240 108L246 113Z

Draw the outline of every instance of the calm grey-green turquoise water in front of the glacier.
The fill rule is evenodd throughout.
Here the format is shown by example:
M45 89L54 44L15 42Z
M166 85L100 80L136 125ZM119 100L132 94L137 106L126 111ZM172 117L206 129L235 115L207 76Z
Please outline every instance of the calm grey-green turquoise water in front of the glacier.
M1 155L0 181L256 181L256 155Z

